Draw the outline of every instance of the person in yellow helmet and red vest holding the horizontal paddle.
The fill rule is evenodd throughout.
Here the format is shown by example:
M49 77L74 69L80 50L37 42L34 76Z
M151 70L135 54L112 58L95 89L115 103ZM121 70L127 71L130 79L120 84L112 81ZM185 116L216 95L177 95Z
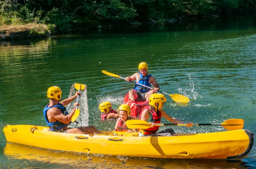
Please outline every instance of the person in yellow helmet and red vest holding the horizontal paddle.
M142 113L140 114L140 120L147 121L151 123L151 128L147 130L140 130L140 136L175 136L177 135L172 129L166 129L160 132L157 132L159 126L155 124L160 123L161 117L163 116L168 121L172 123L187 124L187 127L191 127L191 122L180 121L177 118L172 118L162 110L163 104L166 102L166 97L163 94L154 93L149 97L149 106L143 108Z

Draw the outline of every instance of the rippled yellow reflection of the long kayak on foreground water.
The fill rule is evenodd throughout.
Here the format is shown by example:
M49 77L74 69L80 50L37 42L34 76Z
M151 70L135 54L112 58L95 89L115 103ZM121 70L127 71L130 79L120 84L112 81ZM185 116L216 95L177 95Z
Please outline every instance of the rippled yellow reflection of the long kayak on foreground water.
M4 147L5 162L0 164L9 168L26 167L63 167L66 168L246 168L241 160L212 160L212 159L155 159L128 158L103 155L87 155L70 152L36 149L18 144L6 143Z

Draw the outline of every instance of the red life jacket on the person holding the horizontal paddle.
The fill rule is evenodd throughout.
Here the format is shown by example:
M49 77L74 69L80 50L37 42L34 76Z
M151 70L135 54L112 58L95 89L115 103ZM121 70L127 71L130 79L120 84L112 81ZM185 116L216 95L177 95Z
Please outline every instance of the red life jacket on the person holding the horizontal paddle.
M152 118L153 120L150 121L152 123L155 123L155 124L159 124L161 122L161 117L162 117L162 114L161 114L161 111L157 111L157 112L154 112L153 110L151 110L148 106L144 107L143 110L147 109L149 111L149 113L151 113L152 115ZM143 112L143 110L141 111L141 113ZM140 119L141 119L141 114L140 114ZM143 133L143 135L148 135L148 134L153 134L153 133L156 133L157 130L159 129L160 126L154 126L152 128L149 128L147 130L140 130L141 133Z

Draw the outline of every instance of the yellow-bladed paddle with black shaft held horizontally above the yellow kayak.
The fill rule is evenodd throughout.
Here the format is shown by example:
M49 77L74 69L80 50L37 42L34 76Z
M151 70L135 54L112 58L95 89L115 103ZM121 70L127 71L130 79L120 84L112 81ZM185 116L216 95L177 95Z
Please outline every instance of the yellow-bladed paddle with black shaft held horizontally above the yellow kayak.
M149 129L151 124L143 120L127 120L125 122L129 129ZM186 126L187 124L155 124L155 126ZM220 124L192 124L192 126L222 126L226 130L240 130L244 127L243 119L228 119Z

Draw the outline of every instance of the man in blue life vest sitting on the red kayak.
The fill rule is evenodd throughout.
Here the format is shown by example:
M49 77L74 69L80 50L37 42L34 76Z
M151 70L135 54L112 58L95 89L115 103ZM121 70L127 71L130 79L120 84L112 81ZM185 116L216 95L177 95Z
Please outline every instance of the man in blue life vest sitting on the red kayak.
M141 62L139 64L139 71L140 72L134 73L132 76L126 77L125 80L129 82L136 79L137 83L148 87L151 87L151 84L153 84L154 88L151 90L135 84L134 88L129 91L129 99L131 101L148 101L149 96L160 90L160 87L157 84L156 79L152 75L148 74L148 65L145 62Z

